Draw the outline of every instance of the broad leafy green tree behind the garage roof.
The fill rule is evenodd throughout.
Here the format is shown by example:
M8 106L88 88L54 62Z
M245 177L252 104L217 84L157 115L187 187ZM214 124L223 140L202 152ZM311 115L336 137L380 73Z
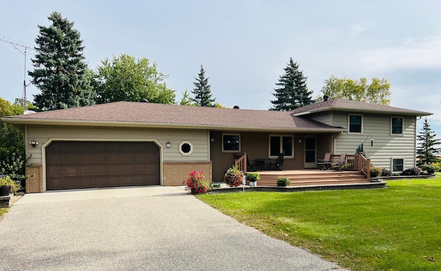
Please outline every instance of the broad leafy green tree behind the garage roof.
M97 103L141 101L174 103L174 90L167 88L167 74L158 72L156 63L128 54L104 59L96 72Z

